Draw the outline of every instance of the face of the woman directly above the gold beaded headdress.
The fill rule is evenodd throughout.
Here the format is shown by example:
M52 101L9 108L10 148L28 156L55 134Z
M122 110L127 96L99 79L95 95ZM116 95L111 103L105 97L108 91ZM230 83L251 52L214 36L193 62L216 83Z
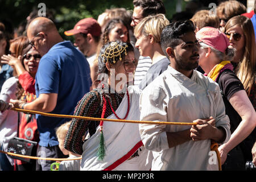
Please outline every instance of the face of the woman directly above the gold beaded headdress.
M121 40L122 42L128 40L128 30L122 23L115 24L115 27L109 32L109 41L113 42L115 40Z

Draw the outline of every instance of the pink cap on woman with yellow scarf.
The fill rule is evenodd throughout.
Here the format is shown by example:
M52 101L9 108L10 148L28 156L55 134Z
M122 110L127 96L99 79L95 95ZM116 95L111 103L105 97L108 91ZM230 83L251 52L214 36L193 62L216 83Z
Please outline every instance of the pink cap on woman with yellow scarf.
M228 48L230 44L226 35L213 27L201 28L196 32L196 38L199 42L203 42L221 52L225 52L226 48Z

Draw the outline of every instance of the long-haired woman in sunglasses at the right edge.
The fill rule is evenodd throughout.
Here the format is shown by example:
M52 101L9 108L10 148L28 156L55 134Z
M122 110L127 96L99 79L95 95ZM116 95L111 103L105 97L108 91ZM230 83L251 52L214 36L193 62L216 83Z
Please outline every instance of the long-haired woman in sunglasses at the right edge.
M232 60L234 72L240 78L247 95L251 96L250 100L253 102L254 109L256 109L256 45L253 23L246 16L234 16L227 22L224 33L229 38L230 46L236 48L236 56Z

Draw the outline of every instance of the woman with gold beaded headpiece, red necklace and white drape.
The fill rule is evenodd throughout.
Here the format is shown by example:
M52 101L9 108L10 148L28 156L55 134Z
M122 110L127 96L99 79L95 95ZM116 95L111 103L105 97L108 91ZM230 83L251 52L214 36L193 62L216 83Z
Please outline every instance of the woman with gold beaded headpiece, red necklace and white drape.
M130 43L109 42L101 48L96 89L86 93L74 115L139 120L138 87L129 86L135 71ZM82 155L81 170L148 170L138 124L73 119L64 147Z

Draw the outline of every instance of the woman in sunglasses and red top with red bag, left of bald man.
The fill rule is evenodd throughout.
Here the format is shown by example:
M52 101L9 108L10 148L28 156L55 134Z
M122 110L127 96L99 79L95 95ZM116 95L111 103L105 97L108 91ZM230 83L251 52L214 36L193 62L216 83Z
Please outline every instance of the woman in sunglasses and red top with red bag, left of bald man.
M14 68L14 78L18 79L16 87L14 86L15 94L17 97L11 99L18 99L23 102L31 102L36 98L35 75L41 56L39 55L38 51L33 49L29 44L27 37L20 36L19 38L16 38L16 45L18 45L19 40L22 40L23 42L22 48L13 48L12 46L10 47L10 49L14 50L19 49L16 57L12 55L3 55L2 62L11 65L11 67ZM16 119L16 121L17 120L18 119ZM36 125L35 114L21 113L18 129L19 138L38 142L39 135L37 128L38 127ZM35 171L36 169L36 161L34 160L32 160L32 163L16 160L16 164L19 171Z

